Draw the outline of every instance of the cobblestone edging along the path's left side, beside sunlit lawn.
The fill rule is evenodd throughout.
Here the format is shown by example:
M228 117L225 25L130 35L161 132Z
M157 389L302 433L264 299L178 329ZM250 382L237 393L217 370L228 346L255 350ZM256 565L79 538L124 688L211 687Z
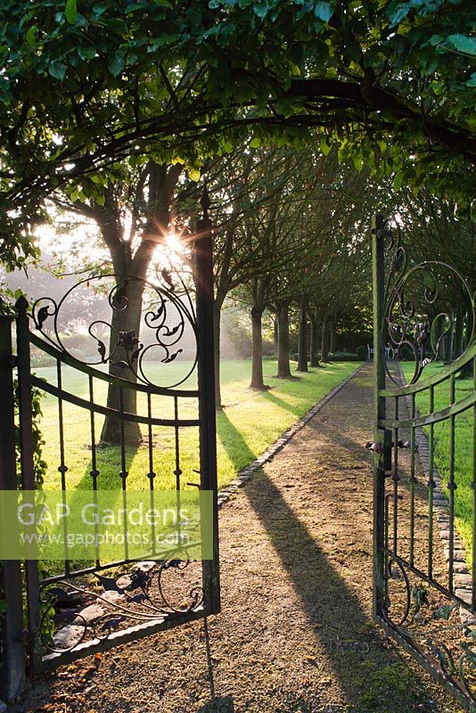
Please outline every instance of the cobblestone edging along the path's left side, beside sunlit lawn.
M272 461L275 455L277 455L283 449L286 443L289 443L291 438L295 436L299 430L304 428L304 426L311 420L311 418L318 414L319 411L323 408L323 406L325 406L328 401L331 400L332 397L339 393L339 391L343 389L344 386L346 386L349 381L354 378L354 376L356 376L356 374L365 366L365 364L366 362L357 366L357 369L351 374L349 374L347 379L341 381L341 383L334 387L332 391L329 391L326 396L321 398L321 400L316 404L316 406L313 406L311 409L309 409L307 414L304 414L304 416L302 416L299 421L295 422L288 430L284 431L281 438L277 438L277 440L275 440L275 442L272 443L271 446L267 447L266 451L259 455L256 460L242 468L236 478L231 480L231 482L229 482L228 485L225 486L225 488L220 488L218 490L218 508L221 508L222 505L225 504L227 500L229 500L230 496L234 495L238 488L242 488L242 486L247 482L247 480L249 480L256 471L259 471L259 469L262 468L265 463L269 463L270 461Z

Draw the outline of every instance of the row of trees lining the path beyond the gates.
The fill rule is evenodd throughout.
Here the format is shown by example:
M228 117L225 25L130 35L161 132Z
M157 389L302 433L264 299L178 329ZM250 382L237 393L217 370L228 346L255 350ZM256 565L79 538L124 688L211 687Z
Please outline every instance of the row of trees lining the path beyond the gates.
M325 361L333 350L336 330L353 325L355 332L371 325L371 260L368 226L373 212L398 209L412 258L445 259L459 266L474 284L474 228L455 217L450 201L436 201L430 193L377 183L367 171L339 161L337 152L307 147L253 148L209 160L202 169L212 198L214 223L214 323L217 406L220 408L221 316L232 297L250 310L251 378L254 389L266 389L262 368L262 319L267 310L275 318L277 375L291 378L290 319L298 318L298 371ZM149 160L137 167L129 160L111 168L103 200L90 192L91 178L74 189L56 191L57 209L73 211L98 228L106 262L117 275L146 279L157 250L170 231L193 236L199 199L197 184L180 163ZM455 234L458 240L454 240ZM409 240L408 240L409 239ZM98 266L89 265L95 271ZM139 330L143 288L132 282L134 293L125 312L115 312L116 332ZM451 310L461 313L457 324L469 322L470 306L464 296L447 291ZM132 299L131 299L132 298ZM458 302L458 299L460 300ZM463 327L462 327L463 328ZM448 340L442 341L442 347ZM461 344L456 333L454 344ZM120 356L119 356L120 358ZM111 373L124 377L111 365ZM134 380L129 373L128 378ZM133 391L127 410L135 410ZM117 407L111 387L108 403ZM117 424L106 421L103 440L119 438ZM140 438L131 425L127 438Z

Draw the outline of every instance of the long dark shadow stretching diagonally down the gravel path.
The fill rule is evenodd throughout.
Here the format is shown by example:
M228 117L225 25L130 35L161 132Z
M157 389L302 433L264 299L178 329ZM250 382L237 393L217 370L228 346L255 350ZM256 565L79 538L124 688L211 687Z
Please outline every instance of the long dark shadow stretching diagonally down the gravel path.
M319 430L328 430L328 438L336 441L336 447L345 448L351 444L355 450L356 443L350 440L348 444L347 438L338 438L341 431L332 432L332 424L320 422ZM237 432L235 438L241 442L242 450L248 451L250 461L253 460L241 434ZM406 713L419 701L428 701L429 693L425 692L421 679L406 665L398 651L390 650L382 643L381 629L362 609L356 594L335 570L324 552L324 543L313 537L286 502L284 492L265 471L258 471L242 490L266 529L299 597L301 611L305 612L308 626L316 638L316 658L324 659L324 668L332 668L352 709L362 713L370 710ZM318 507L319 493L316 491L317 512ZM347 512L344 517L348 517ZM360 536L362 542L368 539L368 529L359 531L356 522L349 520L350 527L353 538L359 540ZM368 585L370 598L371 578ZM343 642L352 646L343 646ZM390 675L390 672L394 673Z

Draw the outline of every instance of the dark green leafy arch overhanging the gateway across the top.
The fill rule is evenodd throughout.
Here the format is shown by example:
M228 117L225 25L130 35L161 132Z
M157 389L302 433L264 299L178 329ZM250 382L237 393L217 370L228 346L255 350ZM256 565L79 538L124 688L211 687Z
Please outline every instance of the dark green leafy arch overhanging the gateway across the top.
M357 168L472 200L471 0L5 0L0 19L7 262L56 188L101 201L126 156L197 178L243 135L335 142Z

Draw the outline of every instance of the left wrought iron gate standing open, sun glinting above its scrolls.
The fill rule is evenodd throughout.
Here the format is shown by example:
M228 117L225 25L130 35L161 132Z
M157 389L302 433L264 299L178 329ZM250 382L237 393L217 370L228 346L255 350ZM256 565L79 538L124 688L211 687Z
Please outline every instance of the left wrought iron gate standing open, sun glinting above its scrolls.
M127 496L128 488L127 427L129 423L141 424L145 436L142 447L146 448L148 463L142 482L144 489L150 492L152 503L156 479L154 459L164 442L170 444L169 449L174 454L172 478L176 492L181 492L185 485L213 492L214 554L213 560L191 562L186 559L186 547L178 546L176 553L168 554L165 559L160 558L160 551L153 550L141 561L131 561L126 545L115 561L102 561L98 554L95 561L80 567L65 554L61 570L56 568L48 576L38 570L37 561L26 561L24 565L20 561L5 561L4 570L0 572L2 596L7 604L1 642L4 690L0 693L4 697L14 694L25 670L25 661L29 672L37 673L219 611L213 275L206 195L202 206L204 216L198 221L193 243L194 299L186 280L178 273L174 275L168 271L163 271L161 281L153 284L120 275L102 275L87 281L90 290L96 286L98 301L107 302L112 314L111 324L106 324L107 320L101 316L89 324L88 332L97 356L87 360L88 363L70 354L63 343L61 325L62 310L68 300L78 294L81 285L84 293L86 281L67 292L60 301L37 300L31 310L26 299L19 300L16 356L12 356L12 320L0 318L0 386L4 399L0 429L0 488L36 488L32 393L34 389L40 389L57 405L57 463L50 463L57 466L57 488L62 491L68 488L71 473L65 434L74 428L74 424L66 422L64 413L68 405L74 405L89 423L90 470L83 479L86 478L87 487L94 492L103 488L98 438L100 418L114 419L119 424L119 443L114 449L117 468L114 468L119 492L122 491L124 496ZM129 300L137 294L149 302L149 307L141 314L140 332L120 332L114 328L114 315L127 312ZM104 329L106 337L103 336ZM149 340L145 339L145 332L149 333ZM55 380L44 381L32 373L30 348L53 360ZM176 357L185 350L185 372L172 383L156 385L147 373L147 355L154 349L159 353L162 372L167 372L172 362L176 367L179 361ZM115 366L116 373L122 369L133 373L135 378L130 381L130 377L111 375L111 365ZM15 465L15 367L18 369L20 412L20 479ZM87 396L78 396L65 386L66 367L74 370L75 377L84 375ZM196 386L190 388L185 384L181 388L195 370ZM98 385L104 382L108 388L110 384L114 385L115 404L108 397L108 403L104 405L97 397ZM138 402L135 410L127 408L131 393L133 400ZM160 399L157 409L154 399ZM184 430L190 429L195 429L197 434L196 454L192 456L193 462L189 455L185 468L181 462L181 438ZM157 431L166 434L162 440L156 435ZM154 445L154 438L159 438L158 446ZM195 482L187 483L187 479ZM23 611L24 602L26 612Z

